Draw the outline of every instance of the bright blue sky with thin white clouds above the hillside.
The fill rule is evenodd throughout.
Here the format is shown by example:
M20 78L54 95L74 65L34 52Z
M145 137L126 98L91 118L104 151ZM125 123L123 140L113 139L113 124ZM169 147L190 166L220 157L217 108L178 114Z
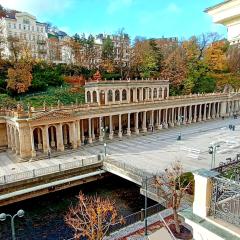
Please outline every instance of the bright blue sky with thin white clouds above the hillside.
M188 38L203 32L226 36L204 9L221 0L0 0L3 7L26 11L68 34L115 33L125 28L133 39Z

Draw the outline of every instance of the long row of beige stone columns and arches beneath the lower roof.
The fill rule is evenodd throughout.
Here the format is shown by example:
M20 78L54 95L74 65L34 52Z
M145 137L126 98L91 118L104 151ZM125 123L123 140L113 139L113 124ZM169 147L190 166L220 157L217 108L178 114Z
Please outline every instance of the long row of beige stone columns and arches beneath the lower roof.
M77 120L74 117L74 120L59 119L57 123L44 125L38 123L36 126L32 124L25 133L9 122L7 124L8 148L21 156L21 149L26 150L22 144L29 143L31 150L28 152L36 156L49 151L76 149L81 144L103 141L104 138L122 138L123 135L138 135L140 132L206 121L221 116L232 116L239 111L239 101L189 103L147 110L137 110L137 108L127 110L126 108L123 112L104 113L88 118L79 117Z

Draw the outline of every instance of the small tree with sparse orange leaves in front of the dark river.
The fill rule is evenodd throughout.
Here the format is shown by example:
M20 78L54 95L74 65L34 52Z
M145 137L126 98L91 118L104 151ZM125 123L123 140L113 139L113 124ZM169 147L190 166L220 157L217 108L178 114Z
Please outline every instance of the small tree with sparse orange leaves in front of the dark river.
M115 203L97 196L85 196L79 193L78 203L71 206L65 216L65 222L73 228L74 238L86 237L88 240L102 240L111 224L117 219ZM122 221L122 218L120 219Z

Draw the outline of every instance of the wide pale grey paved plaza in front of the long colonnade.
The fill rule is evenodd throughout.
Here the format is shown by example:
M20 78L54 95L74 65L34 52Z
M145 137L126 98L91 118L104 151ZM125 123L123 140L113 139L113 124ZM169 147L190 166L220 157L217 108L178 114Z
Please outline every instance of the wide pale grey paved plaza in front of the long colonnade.
M228 128L236 126L235 131ZM181 133L182 140L177 141ZM156 173L175 160L180 160L186 171L210 168L211 155L208 147L219 144L216 166L228 157L235 157L240 147L240 119L217 119L209 122L163 129L142 136L117 137L107 141L107 154L113 161L121 161L145 171ZM80 150L59 157L14 163L6 153L0 153L0 175L24 172L60 163L76 161L104 152L103 143L82 146Z

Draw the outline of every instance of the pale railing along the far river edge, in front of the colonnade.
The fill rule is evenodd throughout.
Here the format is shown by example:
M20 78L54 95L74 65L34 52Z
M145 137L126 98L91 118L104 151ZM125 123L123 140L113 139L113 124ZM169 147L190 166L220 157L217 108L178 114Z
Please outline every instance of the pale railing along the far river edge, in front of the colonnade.
M0 176L0 185L36 178L52 173L63 172L74 168L85 167L99 162L101 162L101 160L98 160L97 157L90 157L81 160L76 160L73 162L61 163L44 168L33 169L25 172L3 175Z

